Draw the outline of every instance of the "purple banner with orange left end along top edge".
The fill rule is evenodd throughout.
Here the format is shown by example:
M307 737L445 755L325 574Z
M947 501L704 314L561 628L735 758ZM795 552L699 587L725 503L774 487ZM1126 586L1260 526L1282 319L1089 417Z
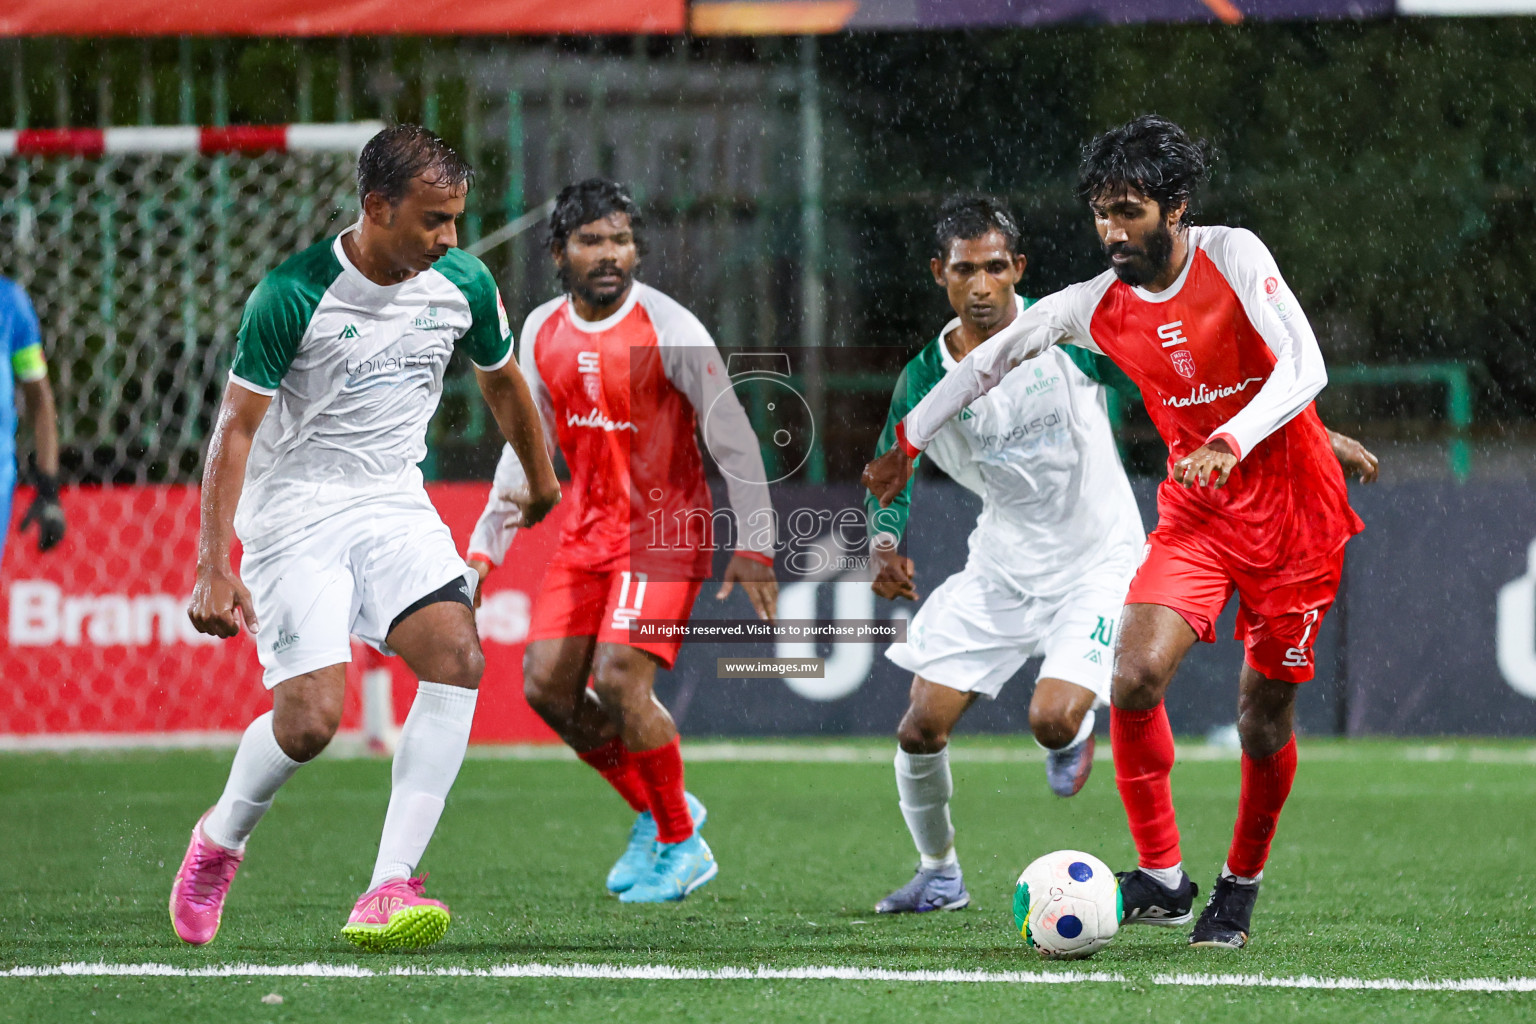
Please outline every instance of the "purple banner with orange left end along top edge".
M699 35L796 35L848 29L960 29L1063 21L1276 21L1376 18L1395 0L694 0Z

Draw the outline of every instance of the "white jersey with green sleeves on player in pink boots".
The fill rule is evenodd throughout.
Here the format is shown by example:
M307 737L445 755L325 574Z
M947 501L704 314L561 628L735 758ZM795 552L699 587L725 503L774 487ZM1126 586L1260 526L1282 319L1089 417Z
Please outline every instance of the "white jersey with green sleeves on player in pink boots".
M272 396L235 511L241 543L269 545L370 497L425 500L416 464L455 345L482 370L511 358L496 282L461 249L379 286L347 259L338 235L263 278L229 373Z

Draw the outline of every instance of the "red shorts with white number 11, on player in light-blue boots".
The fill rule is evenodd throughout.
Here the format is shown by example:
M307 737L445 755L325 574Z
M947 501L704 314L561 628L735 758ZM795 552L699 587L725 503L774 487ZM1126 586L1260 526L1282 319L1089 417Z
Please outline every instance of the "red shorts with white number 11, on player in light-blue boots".
M687 622L700 586L700 580L653 580L647 573L551 565L533 600L528 640L598 637L598 643L622 643L654 654L671 668L682 640L636 643L630 626L642 617Z

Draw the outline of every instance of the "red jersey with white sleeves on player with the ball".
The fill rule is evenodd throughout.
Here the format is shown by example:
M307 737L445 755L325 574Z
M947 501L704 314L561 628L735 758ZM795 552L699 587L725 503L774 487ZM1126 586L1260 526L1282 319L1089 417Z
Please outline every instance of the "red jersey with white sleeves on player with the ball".
M1226 487L1158 490L1161 524L1253 568L1303 570L1362 528L1312 399L1327 384L1318 339L1253 232L1192 227L1172 287L1147 292L1106 270L1025 310L978 345L903 421L919 450L1003 376L1054 344L1101 352L1141 388L1169 467L1223 438Z

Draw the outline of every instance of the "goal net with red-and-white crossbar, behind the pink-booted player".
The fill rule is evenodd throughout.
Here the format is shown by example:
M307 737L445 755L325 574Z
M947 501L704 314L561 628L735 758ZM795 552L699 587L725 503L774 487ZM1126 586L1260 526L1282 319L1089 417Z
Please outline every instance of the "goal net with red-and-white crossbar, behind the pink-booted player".
M14 533L15 502L0 745L227 738L267 705L250 640L186 617L200 461L246 296L356 216L379 127L0 132L0 273L37 307L60 442L81 456L58 548Z

